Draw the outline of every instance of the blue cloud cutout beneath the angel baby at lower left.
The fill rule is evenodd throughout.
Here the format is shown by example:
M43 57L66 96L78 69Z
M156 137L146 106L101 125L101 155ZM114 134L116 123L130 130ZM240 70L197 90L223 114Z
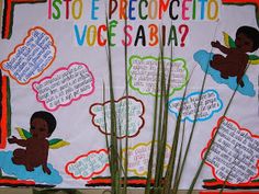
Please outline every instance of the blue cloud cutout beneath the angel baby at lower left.
M15 175L15 178L21 180L34 180L36 183L46 184L59 184L63 182L63 178L59 175L58 171L53 168L52 164L47 164L50 174L44 173L42 167L37 167L34 171L26 171L24 166L16 166L12 162L12 151L0 151L0 169L9 175Z

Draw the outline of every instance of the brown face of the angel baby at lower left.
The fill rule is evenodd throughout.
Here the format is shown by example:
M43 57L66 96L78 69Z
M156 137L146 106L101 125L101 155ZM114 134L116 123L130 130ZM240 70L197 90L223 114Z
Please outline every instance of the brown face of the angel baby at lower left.
M48 137L47 122L42 118L34 118L31 123L30 132L33 138L45 139Z

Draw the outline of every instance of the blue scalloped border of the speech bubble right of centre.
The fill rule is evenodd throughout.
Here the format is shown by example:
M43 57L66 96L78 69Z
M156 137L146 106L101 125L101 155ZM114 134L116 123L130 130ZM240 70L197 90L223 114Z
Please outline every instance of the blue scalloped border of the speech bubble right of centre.
M216 100L217 100L217 103L219 104L219 105L218 105L218 109L213 110L213 111L212 111L207 116L205 116L205 117L198 117L198 118L196 118L196 122L204 122L204 121L207 121L207 119L210 119L210 118L214 115L214 113L217 113L217 112L219 112L219 111L223 109L223 102L222 102L222 100L221 100L218 93L217 93L215 90L206 90L206 91L203 92L203 94L206 94L206 93L210 93L210 92L212 92L212 93L215 94ZM195 98L195 96L196 96L196 98L199 99L199 95L200 95L200 94L201 94L201 92L192 92L192 93L190 93L189 95L187 95L187 96L184 98L184 102L187 102L190 98ZM170 104L171 104L171 103L174 103L174 102L181 103L181 101L182 101L182 98L174 98L174 99L171 99L171 100L169 101L169 112L170 112L170 113L173 113L173 114L176 115L176 117L178 117L179 112L176 112L173 109L171 109ZM201 105L201 106L202 106L202 105ZM200 107L201 107L201 106L200 106ZM181 122L184 122L184 121L187 119L187 121L193 123L193 122L194 122L194 115L195 115L195 111L193 112L193 114L191 114L191 115L185 115L184 117L182 117Z

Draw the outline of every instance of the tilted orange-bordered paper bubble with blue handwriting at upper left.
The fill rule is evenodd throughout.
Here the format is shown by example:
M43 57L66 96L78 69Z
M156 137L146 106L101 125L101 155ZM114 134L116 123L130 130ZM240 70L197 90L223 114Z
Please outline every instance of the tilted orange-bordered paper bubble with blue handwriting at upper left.
M18 45L0 64L18 83L26 84L40 77L54 61L56 46L52 35L42 27L31 28L23 43Z

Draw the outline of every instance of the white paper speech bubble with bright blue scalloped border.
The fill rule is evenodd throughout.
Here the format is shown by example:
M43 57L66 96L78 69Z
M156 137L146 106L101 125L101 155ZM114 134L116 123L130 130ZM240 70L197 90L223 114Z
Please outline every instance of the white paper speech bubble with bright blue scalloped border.
M199 98L201 92L193 92L184 98L182 121L188 119L194 122L195 112L198 109ZM176 116L179 114L182 98L174 98L169 102L169 111ZM214 113L222 110L223 102L215 90L206 90L203 92L200 101L199 113L196 121L203 122L210 119Z

